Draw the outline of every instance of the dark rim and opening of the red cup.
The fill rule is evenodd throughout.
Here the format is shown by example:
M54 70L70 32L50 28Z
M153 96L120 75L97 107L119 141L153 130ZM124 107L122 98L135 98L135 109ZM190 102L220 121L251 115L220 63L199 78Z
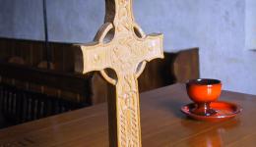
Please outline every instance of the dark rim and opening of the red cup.
M214 78L196 78L189 79L186 84L188 85L214 85L214 84L222 84L222 81Z

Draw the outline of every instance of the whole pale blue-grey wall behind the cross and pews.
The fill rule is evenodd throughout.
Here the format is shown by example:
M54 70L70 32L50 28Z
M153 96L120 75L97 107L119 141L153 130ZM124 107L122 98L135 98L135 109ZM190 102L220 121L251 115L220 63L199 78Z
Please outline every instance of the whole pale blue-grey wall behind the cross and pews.
M9 1L0 0L0 36L43 39L42 18L34 17L41 15L41 1L31 0L30 9L25 0ZM246 4L256 13L254 1L135 0L134 10L147 33L164 34L165 51L199 47L202 77L222 79L224 89L256 94L256 53L245 47L248 38L256 38L250 28L255 19L245 19ZM51 40L89 42L103 23L104 0L48 0L48 13Z

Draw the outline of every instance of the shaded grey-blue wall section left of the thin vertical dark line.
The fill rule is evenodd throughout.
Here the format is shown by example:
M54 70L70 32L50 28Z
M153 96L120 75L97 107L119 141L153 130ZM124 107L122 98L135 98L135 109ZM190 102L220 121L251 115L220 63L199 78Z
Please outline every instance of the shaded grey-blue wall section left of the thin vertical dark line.
M43 39L41 0L0 0L0 36Z

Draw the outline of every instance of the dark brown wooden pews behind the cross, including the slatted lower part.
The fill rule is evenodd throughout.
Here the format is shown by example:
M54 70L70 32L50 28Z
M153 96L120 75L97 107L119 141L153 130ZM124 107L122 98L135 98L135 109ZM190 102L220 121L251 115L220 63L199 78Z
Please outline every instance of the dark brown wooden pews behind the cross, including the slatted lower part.
M44 42L0 38L0 114L8 118L7 123L24 123L106 101L107 83L98 73L74 71L79 45L51 42L50 48L52 69L47 70L41 68L45 66ZM164 56L146 66L139 78L141 92L199 77L198 48Z

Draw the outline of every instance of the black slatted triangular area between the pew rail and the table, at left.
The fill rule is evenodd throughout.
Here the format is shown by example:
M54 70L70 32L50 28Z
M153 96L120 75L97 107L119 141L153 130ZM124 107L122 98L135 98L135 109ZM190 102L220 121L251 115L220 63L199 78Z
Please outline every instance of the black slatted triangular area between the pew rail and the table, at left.
M0 128L38 120L85 106L88 105L0 84L0 111L3 114Z

